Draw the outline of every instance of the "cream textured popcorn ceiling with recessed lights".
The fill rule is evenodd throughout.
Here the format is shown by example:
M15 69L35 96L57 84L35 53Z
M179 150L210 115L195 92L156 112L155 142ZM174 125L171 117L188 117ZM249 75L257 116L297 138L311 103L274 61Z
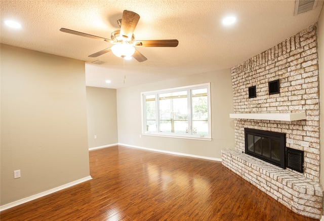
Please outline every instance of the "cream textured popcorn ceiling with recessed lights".
M1 0L1 43L84 60L87 86L121 88L230 68L317 22L322 5L294 16L295 1ZM88 57L109 43L59 31L110 39L124 10L141 16L135 40L177 39L178 47L137 48L148 60L124 63L111 52ZM222 18L230 14L237 21L225 27ZM5 26L6 19L22 28Z

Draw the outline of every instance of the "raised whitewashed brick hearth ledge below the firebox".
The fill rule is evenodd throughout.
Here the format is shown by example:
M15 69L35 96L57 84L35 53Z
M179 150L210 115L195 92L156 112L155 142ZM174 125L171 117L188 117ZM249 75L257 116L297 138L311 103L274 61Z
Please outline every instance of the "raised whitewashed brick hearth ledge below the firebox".
M222 150L222 165L296 213L321 218L323 191L319 182L234 149Z

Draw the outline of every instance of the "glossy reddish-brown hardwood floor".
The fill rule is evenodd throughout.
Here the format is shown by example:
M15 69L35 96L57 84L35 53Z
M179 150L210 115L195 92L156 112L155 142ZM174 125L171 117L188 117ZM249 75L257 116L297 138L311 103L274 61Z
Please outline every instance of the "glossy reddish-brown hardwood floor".
M315 220L220 162L114 146L90 152L92 180L1 212L1 220Z

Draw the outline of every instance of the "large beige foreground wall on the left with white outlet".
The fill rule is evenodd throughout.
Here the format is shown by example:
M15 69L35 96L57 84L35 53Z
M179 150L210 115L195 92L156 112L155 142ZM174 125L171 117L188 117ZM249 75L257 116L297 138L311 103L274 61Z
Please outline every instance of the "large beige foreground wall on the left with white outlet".
M84 61L1 45L1 205L88 177L87 137Z

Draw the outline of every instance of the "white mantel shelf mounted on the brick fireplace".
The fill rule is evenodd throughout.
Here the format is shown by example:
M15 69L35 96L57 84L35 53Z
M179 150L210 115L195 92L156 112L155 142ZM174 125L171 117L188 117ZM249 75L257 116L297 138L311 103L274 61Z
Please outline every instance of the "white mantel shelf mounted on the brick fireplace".
M230 118L253 119L253 120L272 120L272 121L300 121L306 119L306 113L244 113L229 114Z

